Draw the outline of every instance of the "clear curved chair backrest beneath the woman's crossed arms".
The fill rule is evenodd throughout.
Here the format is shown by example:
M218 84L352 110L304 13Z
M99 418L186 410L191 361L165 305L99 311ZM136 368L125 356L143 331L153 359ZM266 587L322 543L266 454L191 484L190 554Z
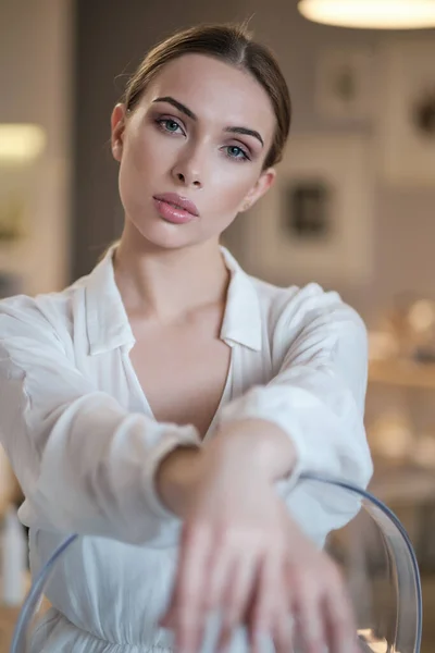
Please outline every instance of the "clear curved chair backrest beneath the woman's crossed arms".
M341 567L358 625L361 651L365 653L420 653L422 591L411 542L391 510L375 496L351 483L307 473L300 483L315 494L346 494L355 517L331 532L325 550ZM343 496L340 496L343 500ZM344 520L346 522L346 519ZM11 653L27 653L50 574L77 539L71 535L53 553L34 579L13 636Z

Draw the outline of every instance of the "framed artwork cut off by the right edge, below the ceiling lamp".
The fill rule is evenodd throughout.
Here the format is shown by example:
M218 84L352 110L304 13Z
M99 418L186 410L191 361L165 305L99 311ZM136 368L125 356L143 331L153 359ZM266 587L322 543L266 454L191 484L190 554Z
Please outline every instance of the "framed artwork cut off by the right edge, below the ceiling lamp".
M435 188L435 39L383 47L380 174L401 187Z

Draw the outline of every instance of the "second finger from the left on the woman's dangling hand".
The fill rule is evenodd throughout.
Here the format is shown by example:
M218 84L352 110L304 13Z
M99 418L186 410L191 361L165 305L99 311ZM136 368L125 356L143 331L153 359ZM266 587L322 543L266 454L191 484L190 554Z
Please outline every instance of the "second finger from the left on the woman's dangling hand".
M226 650L229 645L234 629L241 624L246 615L257 569L258 564L248 556L234 562L231 566L222 606L221 633L217 640L219 652Z

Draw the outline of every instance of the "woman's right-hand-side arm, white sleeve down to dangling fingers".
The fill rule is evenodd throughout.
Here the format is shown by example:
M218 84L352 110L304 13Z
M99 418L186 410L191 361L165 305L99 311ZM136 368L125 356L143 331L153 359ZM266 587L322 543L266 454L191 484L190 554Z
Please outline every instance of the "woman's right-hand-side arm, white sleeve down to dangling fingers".
M343 580L318 545L359 506L324 485L294 485L306 469L368 482L365 330L339 301L315 312L300 308L296 337L296 320L285 312L275 325L273 380L229 404L200 452L174 452L159 468L163 502L184 517L163 620L182 649L197 650L208 611L221 611L224 645L248 615L252 644L269 632L289 650L289 609L303 617L296 629L307 650L325 648L322 633L331 650L355 650ZM277 480L287 510L274 492Z

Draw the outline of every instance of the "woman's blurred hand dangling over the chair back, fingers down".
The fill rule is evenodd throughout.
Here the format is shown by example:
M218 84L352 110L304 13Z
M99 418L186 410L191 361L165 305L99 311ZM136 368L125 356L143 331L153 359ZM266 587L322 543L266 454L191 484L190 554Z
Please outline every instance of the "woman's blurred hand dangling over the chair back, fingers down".
M225 453L224 453L225 452ZM253 650L270 634L278 653L356 651L356 628L333 562L287 514L260 468L243 467L213 441L185 507L175 586L162 625L181 653L200 649L211 612L222 617L219 650L246 624ZM294 629L291 627L294 617Z

